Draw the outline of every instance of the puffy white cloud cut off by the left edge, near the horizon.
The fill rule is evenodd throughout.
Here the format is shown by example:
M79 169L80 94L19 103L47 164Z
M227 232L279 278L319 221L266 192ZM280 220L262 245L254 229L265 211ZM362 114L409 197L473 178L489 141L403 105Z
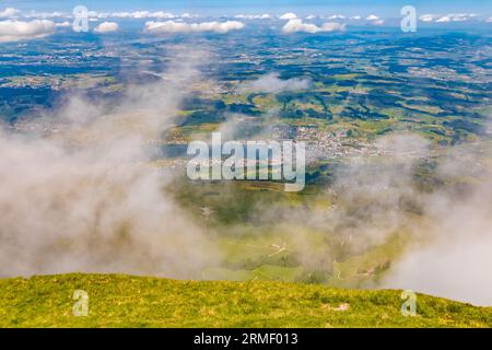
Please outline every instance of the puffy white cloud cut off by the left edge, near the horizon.
M55 22L47 20L2 21L0 22L0 43L39 38L55 33Z

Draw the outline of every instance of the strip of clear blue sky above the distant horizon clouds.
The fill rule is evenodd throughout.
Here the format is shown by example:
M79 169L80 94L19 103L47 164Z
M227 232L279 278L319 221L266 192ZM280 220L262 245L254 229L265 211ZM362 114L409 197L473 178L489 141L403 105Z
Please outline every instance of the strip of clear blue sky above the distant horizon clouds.
M199 14L282 13L366 14L399 16L402 5L411 4L419 13L473 12L492 15L492 0L0 0L0 9L70 11L84 4L94 11L163 10Z

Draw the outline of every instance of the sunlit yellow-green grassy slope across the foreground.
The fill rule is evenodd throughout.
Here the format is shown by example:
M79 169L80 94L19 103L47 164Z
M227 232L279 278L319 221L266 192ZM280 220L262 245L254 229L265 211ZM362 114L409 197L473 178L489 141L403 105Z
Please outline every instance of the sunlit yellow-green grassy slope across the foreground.
M86 317L72 312L78 289L89 293ZM403 317L401 303L400 291L265 281L119 275L0 280L1 327L492 327L490 307L419 294L418 315Z

